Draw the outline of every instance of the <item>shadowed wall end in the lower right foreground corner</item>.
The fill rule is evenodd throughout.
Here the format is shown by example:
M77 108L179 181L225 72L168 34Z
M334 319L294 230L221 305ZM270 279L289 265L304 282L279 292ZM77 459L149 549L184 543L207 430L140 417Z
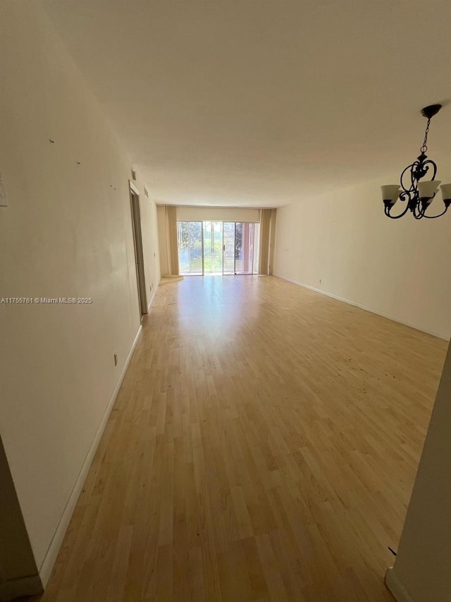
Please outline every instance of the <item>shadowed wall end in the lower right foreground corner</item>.
M386 582L400 602L451 601L451 346Z

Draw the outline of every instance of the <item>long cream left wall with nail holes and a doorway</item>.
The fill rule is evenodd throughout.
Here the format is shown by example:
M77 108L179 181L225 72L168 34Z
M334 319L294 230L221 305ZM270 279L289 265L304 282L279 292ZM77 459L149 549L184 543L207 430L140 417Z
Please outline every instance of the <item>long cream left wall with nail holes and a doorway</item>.
M140 327L130 160L35 0L0 2L0 81L0 298L92 298L0 304L0 434L42 567ZM136 185L150 299L156 205Z

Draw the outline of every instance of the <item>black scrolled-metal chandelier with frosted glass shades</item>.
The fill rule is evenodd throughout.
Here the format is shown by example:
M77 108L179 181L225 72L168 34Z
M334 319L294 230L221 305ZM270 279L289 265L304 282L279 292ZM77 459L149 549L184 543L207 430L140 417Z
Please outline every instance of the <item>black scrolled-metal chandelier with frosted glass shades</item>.
M421 114L428 120L426 131L424 133L423 145L421 145L420 155L416 161L407 165L404 171L402 171L400 179L401 186L399 184L381 186L385 215L391 217L391 219L399 219L403 215L406 215L409 210L412 211L415 219L421 219L421 217L434 219L435 217L440 217L440 215L445 214L447 208L451 205L451 183L442 184L440 189L442 191L445 209L438 215L426 215L429 205L431 205L435 195L438 193L438 186L440 184L440 180L435 180L437 165L426 156L426 150L428 150L426 143L428 142L431 119L441 108L441 104L431 104L429 107L424 107L424 109L421 110ZM421 181L426 174L428 174L431 179ZM401 201L407 202L407 205L399 215L391 215L391 210L398 198Z

